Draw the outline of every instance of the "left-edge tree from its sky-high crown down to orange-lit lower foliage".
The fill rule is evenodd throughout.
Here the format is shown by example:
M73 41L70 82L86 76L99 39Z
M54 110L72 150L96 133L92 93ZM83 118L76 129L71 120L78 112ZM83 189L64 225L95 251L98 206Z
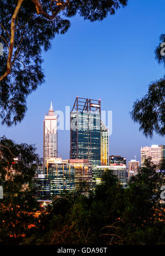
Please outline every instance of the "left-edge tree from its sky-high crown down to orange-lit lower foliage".
M0 140L0 244L19 244L36 224L40 205L30 184L40 158L34 145Z

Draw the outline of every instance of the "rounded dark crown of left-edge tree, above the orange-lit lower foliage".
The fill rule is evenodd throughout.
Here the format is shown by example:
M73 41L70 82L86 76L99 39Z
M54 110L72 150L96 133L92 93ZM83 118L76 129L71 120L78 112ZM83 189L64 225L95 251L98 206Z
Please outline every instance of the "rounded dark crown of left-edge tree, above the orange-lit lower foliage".
M5 186L13 187L13 193L17 192L24 184L31 182L37 166L41 164L41 159L35 151L36 148L34 145L27 145L25 143L17 144L13 140L5 137L1 138L1 183L6 183Z

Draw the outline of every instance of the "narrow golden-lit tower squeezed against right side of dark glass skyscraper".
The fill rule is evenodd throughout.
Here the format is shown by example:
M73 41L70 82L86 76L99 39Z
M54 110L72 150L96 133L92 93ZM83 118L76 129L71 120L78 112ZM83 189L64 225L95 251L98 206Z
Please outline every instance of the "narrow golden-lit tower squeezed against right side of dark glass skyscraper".
M101 122L101 164L109 165L109 132Z

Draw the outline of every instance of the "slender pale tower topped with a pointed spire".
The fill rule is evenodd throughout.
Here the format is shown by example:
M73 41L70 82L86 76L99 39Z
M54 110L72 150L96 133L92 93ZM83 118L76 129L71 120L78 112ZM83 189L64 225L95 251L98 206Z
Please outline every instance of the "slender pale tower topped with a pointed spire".
M52 107L43 121L43 168L47 159L57 157L57 115Z

